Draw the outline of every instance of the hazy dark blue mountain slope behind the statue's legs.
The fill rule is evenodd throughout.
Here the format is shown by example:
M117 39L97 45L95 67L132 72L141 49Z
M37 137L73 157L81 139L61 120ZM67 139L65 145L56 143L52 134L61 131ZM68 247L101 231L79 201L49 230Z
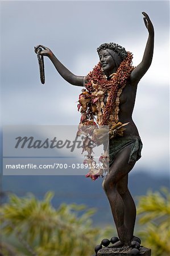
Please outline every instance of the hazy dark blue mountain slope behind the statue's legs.
M134 199L137 200L136 196L146 194L148 189L155 191L161 186L169 187L169 178L154 177L136 170L130 175L128 183ZM102 179L92 181L85 176L3 176L2 189L18 196L32 192L39 199L50 190L55 192L52 200L55 207L63 202L86 204L98 209L93 218L96 224L112 221L109 201L102 189Z

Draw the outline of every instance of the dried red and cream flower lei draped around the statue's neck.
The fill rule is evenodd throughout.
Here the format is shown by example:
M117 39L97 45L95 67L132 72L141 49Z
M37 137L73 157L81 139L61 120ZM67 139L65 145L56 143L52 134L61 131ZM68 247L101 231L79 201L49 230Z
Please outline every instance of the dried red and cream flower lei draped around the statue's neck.
M134 69L131 62L132 53L127 52L126 59L119 65L117 72L110 75L109 78L105 76L100 63L93 68L92 72L89 72L86 76L88 81L85 85L86 89L82 89L77 105L78 111L81 112L81 125L109 125L111 138L115 135L123 136L123 130L125 130L123 126L128 123L119 122L119 98ZM104 103L105 96L107 96L106 104ZM103 156L105 155L108 158L107 152L103 154ZM91 155L88 158L92 160ZM91 170L86 176L95 180L98 176L102 176L102 172L100 170L96 174Z

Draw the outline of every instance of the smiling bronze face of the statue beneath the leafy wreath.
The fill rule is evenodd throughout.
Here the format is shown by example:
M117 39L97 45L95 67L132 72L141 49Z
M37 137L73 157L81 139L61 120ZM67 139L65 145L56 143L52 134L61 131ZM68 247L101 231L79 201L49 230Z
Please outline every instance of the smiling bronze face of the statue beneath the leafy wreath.
M99 60L102 65L103 71L107 76L114 73L116 69L115 61L109 51L105 49L99 52Z

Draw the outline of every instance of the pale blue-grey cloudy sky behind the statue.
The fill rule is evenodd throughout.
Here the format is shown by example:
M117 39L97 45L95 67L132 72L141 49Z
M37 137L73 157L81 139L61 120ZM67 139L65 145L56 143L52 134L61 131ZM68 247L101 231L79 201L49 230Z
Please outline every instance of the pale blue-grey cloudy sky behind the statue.
M45 58L40 83L34 46L52 49L76 75L98 63L96 48L115 42L142 60L148 32L142 11L155 28L152 65L139 82L133 119L143 141L139 168L169 170L169 2L2 1L1 85L3 125L77 125L81 88L69 85Z

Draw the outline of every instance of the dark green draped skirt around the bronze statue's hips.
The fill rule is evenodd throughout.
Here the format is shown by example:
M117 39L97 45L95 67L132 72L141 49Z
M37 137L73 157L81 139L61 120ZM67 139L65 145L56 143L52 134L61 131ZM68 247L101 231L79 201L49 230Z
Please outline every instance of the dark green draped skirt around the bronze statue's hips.
M116 137L109 141L109 167L113 164L118 152L128 145L131 145L128 163L136 162L141 158L142 141L139 136Z

